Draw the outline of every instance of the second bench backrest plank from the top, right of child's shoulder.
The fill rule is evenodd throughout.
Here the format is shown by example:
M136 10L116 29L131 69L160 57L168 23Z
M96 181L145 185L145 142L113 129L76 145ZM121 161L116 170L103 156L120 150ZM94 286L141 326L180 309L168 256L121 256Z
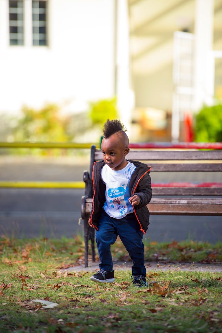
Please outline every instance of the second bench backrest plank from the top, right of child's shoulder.
M209 171L222 171L222 163L147 163L151 166L151 171L155 172L180 172L180 171L190 171L190 172L209 172Z

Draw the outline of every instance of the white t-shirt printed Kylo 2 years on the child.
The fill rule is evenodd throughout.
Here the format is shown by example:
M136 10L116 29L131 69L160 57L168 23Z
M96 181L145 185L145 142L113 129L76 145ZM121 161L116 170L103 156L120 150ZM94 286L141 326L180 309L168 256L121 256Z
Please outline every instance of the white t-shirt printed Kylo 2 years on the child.
M108 165L101 169L101 177L106 184L106 202L104 210L114 218L122 218L133 212L129 203L129 180L136 166L128 162L121 170L112 170Z

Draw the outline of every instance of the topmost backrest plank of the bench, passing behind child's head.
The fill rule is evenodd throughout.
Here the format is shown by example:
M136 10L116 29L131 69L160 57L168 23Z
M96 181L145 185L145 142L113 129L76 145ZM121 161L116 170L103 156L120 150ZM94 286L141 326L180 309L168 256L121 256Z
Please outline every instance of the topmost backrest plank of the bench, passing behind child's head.
M200 161L200 160L222 160L222 151L152 151L130 150L127 159L136 161ZM103 160L100 150L95 152L95 161Z

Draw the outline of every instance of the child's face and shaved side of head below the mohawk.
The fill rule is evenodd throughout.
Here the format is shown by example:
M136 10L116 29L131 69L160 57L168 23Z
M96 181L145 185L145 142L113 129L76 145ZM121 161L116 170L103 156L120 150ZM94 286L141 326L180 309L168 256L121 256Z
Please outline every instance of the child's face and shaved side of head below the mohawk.
M112 170L121 170L126 166L125 156L129 148L125 147L124 140L121 140L116 133L107 139L104 138L101 148L103 160Z

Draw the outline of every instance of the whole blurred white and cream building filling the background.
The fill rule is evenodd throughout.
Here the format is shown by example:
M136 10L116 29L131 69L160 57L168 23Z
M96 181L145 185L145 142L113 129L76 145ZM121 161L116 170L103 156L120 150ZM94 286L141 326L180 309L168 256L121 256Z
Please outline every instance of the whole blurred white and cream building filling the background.
M0 0L0 113L117 95L126 124L172 111L176 140L184 110L222 96L220 50L222 0Z

